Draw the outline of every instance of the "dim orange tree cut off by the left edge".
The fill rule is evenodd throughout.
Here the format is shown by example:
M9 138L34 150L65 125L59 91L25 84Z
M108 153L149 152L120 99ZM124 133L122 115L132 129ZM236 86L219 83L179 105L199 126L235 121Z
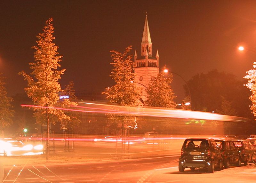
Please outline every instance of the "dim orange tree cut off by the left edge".
M4 128L12 124L14 111L12 110L11 97L7 97L3 73L0 73L0 130L4 137Z

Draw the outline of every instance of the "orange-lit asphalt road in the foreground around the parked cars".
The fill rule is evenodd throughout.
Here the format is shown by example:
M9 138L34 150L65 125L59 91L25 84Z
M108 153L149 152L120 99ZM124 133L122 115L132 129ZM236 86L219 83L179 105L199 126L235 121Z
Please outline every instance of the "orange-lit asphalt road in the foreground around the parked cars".
M168 183L254 182L256 166L230 167L214 173L203 169L178 171L179 155L68 165L12 166L4 169L4 183Z

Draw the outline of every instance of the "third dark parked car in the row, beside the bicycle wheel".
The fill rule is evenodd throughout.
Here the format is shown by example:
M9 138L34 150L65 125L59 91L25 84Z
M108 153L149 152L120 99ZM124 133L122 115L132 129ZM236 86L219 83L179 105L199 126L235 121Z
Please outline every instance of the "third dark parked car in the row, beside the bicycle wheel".
M256 148L252 145L252 142L250 140L232 139L232 141L234 142L235 146L238 147L238 150L241 152L242 162L244 163L244 165L248 165L249 161L252 158L252 153L256 151Z

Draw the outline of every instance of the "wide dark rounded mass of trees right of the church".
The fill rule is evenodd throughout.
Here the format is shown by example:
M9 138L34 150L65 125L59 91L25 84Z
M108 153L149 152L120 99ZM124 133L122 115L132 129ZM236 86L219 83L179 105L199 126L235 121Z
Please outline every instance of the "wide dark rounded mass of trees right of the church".
M248 107L249 91L243 87L243 81L237 80L233 74L219 72L216 69L206 74L196 74L188 81L188 87L191 92L193 110L226 111L226 115L236 114L233 113L236 111L241 117L251 118L252 116ZM184 89L188 95L187 87L184 86ZM223 102L228 102L228 104L222 105ZM232 107L234 111L228 113L228 110L223 107Z

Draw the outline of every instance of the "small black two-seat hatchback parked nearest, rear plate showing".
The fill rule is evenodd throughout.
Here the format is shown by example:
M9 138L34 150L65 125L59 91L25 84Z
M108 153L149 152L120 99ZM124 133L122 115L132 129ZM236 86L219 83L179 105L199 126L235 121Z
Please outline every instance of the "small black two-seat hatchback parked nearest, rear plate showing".
M180 172L185 168L206 168L209 173L213 173L215 167L222 169L223 159L214 139L190 138L184 141L179 158Z

